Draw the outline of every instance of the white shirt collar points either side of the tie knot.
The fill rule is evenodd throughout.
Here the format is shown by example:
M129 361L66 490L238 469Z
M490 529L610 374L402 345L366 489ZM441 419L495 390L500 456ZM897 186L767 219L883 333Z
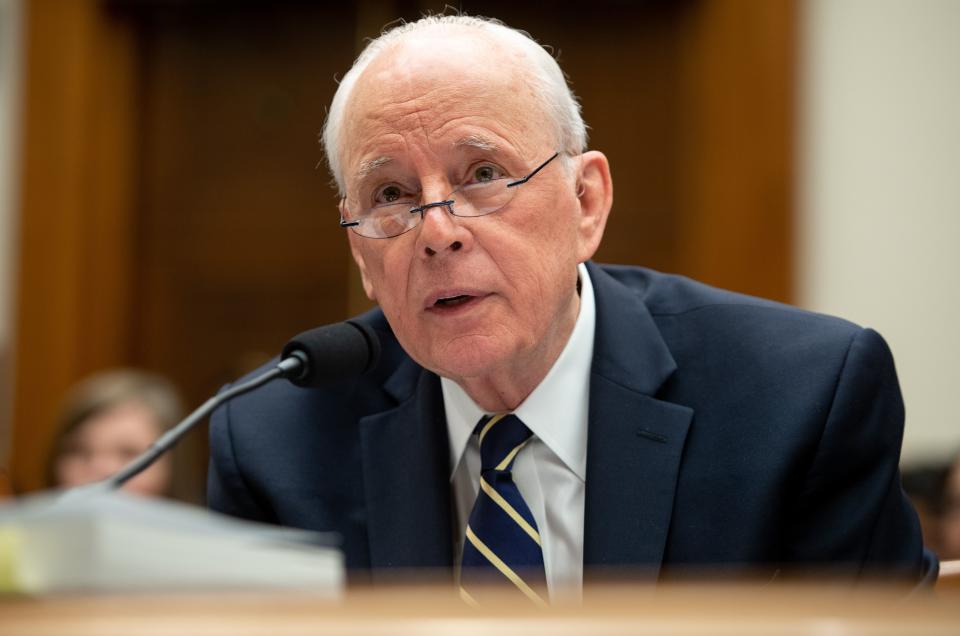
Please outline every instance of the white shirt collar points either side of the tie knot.
M581 480L587 473L587 419L590 363L596 327L596 306L590 275L582 263L580 311L560 357L514 413ZM483 417L481 409L453 380L440 378L450 440L451 479L463 459L470 435Z

